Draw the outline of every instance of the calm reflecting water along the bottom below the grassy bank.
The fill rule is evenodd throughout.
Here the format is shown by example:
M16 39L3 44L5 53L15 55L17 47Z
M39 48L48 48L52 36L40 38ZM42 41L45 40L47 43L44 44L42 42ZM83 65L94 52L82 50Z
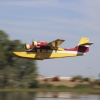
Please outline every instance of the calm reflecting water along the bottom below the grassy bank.
M0 100L100 100L100 95L52 92L0 92Z

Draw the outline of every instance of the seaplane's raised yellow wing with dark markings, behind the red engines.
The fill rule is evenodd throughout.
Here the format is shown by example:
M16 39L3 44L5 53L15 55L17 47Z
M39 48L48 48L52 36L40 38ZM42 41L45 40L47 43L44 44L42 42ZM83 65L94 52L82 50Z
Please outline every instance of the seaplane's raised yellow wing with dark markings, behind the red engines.
M51 48L55 48L57 49L65 40L62 39L56 39L52 42L49 42L48 44L46 44L45 46L50 46Z

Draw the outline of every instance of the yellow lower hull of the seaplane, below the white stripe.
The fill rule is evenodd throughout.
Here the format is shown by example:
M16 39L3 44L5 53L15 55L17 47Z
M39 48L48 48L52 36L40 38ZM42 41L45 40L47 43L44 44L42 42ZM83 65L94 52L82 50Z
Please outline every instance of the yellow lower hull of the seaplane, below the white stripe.
M13 52L15 55L23 58L32 58L32 59L52 59L52 58L62 58L62 57L74 57L77 54L73 53L59 53L59 52Z

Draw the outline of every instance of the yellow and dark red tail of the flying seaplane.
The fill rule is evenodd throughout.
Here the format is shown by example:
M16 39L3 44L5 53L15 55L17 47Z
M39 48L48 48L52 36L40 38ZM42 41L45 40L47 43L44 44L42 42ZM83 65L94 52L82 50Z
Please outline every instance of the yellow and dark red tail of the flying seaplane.
M89 51L90 45L93 43L89 41L89 38L82 37L78 43L78 52L81 52L83 54L87 53Z

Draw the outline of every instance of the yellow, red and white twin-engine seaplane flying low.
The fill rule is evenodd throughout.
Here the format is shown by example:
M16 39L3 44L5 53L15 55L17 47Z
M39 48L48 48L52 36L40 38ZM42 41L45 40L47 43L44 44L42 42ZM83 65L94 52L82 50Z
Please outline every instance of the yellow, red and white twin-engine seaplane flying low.
M52 42L33 41L31 44L25 44L25 51L14 51L13 54L34 60L84 56L93 44L89 38L82 37L74 48L62 48L60 45L64 41L63 39L56 39Z

